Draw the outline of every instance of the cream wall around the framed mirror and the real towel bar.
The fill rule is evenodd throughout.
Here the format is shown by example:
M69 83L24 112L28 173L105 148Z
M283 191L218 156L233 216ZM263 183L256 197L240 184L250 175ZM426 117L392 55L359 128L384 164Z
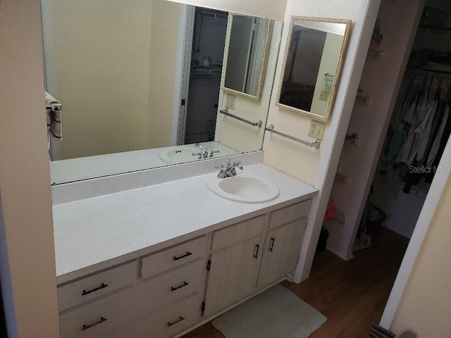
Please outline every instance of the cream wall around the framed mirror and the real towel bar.
M356 20L359 4L360 1L357 0L288 0L274 86L277 87L279 85L280 70L292 15ZM333 114L340 115L342 113L337 108L339 106L335 105L332 111ZM276 93L273 93L268 113L268 124L274 124L274 129L313 142L314 139L307 136L310 122L311 118L307 115L276 106ZM333 130L333 128L328 128L324 137L335 137L335 132L336 130ZM266 134L263 148L264 163L311 185L316 183L316 174L318 173L321 156L329 156L326 152L323 154L323 149L313 149L273 134Z

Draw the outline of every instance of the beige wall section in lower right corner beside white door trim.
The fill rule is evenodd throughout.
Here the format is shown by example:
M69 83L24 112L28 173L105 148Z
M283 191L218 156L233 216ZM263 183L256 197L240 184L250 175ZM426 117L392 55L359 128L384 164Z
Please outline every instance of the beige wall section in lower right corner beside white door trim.
M451 180L448 179L416 258L391 330L418 337L450 337Z

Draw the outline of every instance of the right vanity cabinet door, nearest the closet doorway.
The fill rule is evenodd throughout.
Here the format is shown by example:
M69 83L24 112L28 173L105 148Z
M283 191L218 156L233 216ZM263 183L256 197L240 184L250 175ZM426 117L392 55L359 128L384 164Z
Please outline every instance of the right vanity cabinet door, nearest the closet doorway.
M257 287L276 282L295 268L307 219L297 220L266 236Z

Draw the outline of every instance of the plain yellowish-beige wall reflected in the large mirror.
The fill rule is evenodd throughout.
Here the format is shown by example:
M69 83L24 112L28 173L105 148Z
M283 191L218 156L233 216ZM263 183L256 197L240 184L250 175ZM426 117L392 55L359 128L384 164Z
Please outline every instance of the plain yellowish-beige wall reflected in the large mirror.
M178 8L42 0L47 89L63 104L54 159L171 144Z

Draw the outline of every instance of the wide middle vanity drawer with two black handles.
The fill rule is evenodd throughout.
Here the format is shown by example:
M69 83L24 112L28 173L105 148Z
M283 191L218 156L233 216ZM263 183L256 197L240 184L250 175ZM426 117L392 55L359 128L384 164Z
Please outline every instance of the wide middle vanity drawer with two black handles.
M205 261L199 260L65 313L60 316L61 337L99 338L111 334L191 294L203 294L204 275ZM199 308L201 303L197 304Z

